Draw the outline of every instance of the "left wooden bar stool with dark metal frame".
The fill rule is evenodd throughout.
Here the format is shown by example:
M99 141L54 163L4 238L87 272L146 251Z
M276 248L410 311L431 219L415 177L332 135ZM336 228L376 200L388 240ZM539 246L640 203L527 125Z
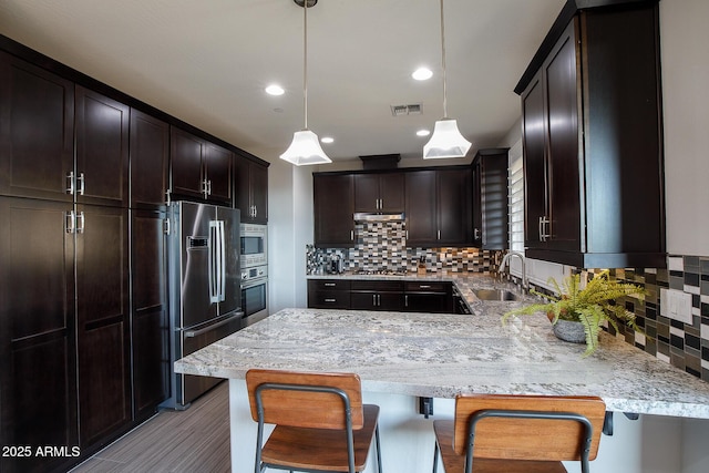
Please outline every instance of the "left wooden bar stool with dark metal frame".
M246 385L258 422L256 473L361 472L372 438L381 473L379 407L362 404L359 376L254 369ZM264 444L266 423L276 426Z

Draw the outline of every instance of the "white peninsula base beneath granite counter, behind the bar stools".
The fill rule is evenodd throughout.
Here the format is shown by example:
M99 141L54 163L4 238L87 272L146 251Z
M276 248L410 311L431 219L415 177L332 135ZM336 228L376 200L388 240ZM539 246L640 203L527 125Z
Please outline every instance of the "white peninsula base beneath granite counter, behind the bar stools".
M363 402L378 404L380 412L382 471L428 473L433 462L433 419L452 419L453 399L434 399L433 415L418 413L419 398L382 392L363 392ZM251 473L256 449L256 422L251 419L246 382L229 380L232 472ZM270 433L270 430L266 434ZM592 471L603 473L699 473L709 471L709 455L688 449L687 438L707 439L709 422L659 415L640 415L637 421L614 414L614 433L603 435ZM703 436L701 436L703 435ZM266 436L266 435L265 435ZM699 441L699 440L698 440ZM693 452L693 453L692 453ZM690 457L689 455L693 455ZM697 457L699 455L699 457ZM364 473L376 471L371 455ZM569 473L578 463L566 463ZM443 469L439 465L439 471Z

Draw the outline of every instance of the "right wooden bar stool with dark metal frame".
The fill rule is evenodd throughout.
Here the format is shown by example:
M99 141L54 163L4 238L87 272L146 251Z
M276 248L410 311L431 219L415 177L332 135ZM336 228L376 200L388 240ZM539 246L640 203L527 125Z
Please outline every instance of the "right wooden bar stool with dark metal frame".
M455 398L455 419L433 422L433 473L565 473L598 453L606 404L595 397L470 394Z

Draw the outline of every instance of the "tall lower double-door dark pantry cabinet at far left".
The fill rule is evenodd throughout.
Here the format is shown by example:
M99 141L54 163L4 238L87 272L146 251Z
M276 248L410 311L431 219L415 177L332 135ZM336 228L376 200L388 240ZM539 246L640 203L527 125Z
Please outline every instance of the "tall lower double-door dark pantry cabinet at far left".
M66 470L132 425L129 210L0 197L0 444L33 453L0 471Z

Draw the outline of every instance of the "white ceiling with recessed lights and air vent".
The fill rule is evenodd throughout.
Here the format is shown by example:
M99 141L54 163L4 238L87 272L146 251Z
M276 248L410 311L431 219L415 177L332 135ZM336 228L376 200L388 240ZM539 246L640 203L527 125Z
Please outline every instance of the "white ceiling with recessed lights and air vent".
M520 116L513 89L565 0L445 0L448 112L476 148ZM308 127L335 161L420 157L443 115L438 0L308 10ZM0 33L273 161L304 125L294 0L2 0ZM428 65L425 82L411 72ZM266 95L280 83L286 94ZM393 117L390 105L423 104Z

